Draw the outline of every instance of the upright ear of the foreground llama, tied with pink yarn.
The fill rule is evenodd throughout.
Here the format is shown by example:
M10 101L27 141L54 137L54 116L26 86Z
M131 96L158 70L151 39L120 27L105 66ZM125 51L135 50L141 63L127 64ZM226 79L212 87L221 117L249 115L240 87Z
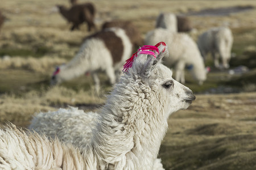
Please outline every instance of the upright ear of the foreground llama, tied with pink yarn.
M155 68L158 63L161 63L163 57L168 57L167 46L164 44L160 44L158 46L159 54L158 56L153 56L148 54L146 62L144 62L144 66L141 70L141 75L145 78L148 78L151 75L151 71Z

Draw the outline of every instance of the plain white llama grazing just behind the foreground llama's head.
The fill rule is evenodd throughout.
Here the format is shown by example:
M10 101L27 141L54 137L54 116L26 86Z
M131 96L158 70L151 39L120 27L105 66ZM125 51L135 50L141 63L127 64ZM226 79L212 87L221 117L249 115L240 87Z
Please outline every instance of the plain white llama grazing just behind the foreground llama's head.
M185 33L175 33L168 29L154 29L146 34L145 44L152 45L164 41L168 46L170 57L165 58L164 64L175 65L175 79L185 83L184 69L187 67L193 78L199 83L207 78L207 70L203 58L197 48L196 42Z

